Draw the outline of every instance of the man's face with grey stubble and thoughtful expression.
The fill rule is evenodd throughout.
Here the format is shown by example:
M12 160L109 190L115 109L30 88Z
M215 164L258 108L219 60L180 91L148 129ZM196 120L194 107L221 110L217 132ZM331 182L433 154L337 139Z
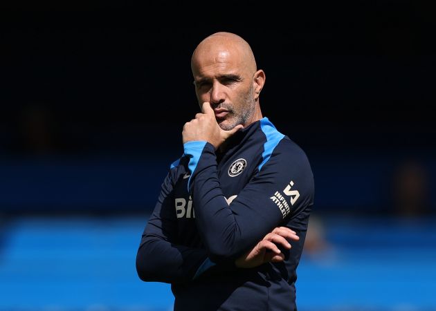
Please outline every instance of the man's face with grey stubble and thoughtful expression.
M201 106L210 102L221 129L246 124L255 112L253 75L237 53L217 50L197 57L192 66L195 93Z

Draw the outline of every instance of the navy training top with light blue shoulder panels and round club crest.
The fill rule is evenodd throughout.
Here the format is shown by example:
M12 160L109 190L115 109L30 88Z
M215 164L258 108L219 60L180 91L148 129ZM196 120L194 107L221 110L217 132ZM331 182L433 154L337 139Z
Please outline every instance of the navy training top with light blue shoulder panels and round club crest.
M136 256L143 281L171 283L174 310L296 310L296 268L314 203L307 156L267 117L226 140L187 142L171 164ZM299 241L282 263L235 259L274 227Z

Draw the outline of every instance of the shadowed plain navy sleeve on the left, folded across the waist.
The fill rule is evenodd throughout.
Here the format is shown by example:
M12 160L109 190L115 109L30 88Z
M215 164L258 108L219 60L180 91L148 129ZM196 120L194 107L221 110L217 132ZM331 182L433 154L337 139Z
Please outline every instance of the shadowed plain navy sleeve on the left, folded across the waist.
M190 281L206 258L205 249L177 244L176 212L169 173L162 184L158 202L145 226L136 254L138 276L143 281Z

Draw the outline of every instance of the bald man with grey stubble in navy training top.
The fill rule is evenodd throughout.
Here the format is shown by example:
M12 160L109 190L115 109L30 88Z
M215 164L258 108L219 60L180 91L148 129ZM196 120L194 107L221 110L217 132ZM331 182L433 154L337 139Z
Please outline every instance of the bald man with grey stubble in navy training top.
M244 39L206 37L191 67L202 112L183 126L184 153L145 227L138 276L171 283L174 310L296 310L314 202L307 157L262 116L265 74Z

